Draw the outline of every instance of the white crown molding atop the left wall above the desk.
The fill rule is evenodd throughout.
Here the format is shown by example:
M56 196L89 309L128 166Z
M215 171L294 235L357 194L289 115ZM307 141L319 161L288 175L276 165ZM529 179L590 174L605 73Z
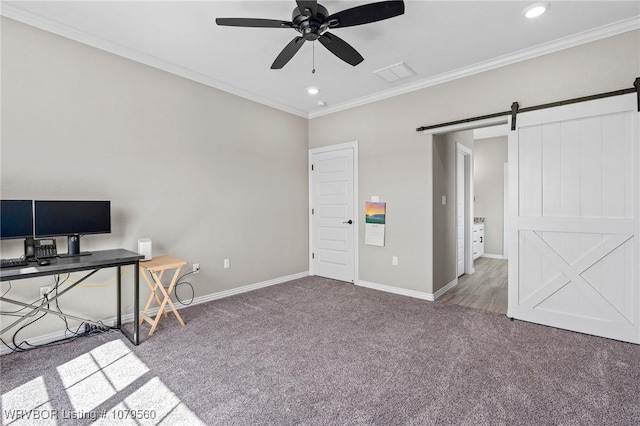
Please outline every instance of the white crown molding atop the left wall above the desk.
M23 24L30 25L32 27L39 28L41 30L77 41L82 44L86 44L91 47L112 53L114 55L122 56L132 61L148 65L153 68L157 68L162 71L166 71L171 74L175 74L180 77L184 77L188 80L195 81L197 83L204 84L205 86L213 87L215 89L223 90L236 96L248 99L253 102L257 102L262 105L266 105L280 111L287 112L289 114L297 115L303 118L309 118L306 111L292 108L288 105L284 105L279 102L275 102L271 99L267 99L261 96L257 96L253 93L247 92L236 86L227 84L223 81L215 79L213 77L206 76L191 69L181 67L176 64L172 64L165 60L156 58L151 55L147 55L138 50L122 46L117 43L105 40L100 37L96 37L85 31L80 31L59 22L52 21L50 19L43 18L42 16L27 12L23 9L15 7L7 3L0 4L0 15L13 19Z

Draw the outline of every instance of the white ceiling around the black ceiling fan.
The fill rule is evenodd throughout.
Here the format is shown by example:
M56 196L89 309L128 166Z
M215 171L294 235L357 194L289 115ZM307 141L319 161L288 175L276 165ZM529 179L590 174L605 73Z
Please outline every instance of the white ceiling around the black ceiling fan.
M329 13L371 1L320 1ZM365 58L352 67L307 42L281 70L270 66L298 33L236 28L219 17L291 20L286 1L4 1L2 14L74 40L291 112L317 117L518 60L640 28L640 1L405 1L405 14L331 30ZM315 45L315 46L314 46ZM313 54L315 51L315 69ZM405 62L416 75L374 74ZM319 88L311 96L306 89ZM323 100L326 106L319 107Z

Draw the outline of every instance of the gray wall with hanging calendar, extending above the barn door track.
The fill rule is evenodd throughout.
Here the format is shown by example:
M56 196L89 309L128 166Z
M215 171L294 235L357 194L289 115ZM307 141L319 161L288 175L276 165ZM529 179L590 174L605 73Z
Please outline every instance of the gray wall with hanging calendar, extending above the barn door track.
M360 279L434 292L432 136L417 127L632 87L639 41L628 32L310 120L311 148L359 141L360 217L371 195L387 202L385 247L360 229Z

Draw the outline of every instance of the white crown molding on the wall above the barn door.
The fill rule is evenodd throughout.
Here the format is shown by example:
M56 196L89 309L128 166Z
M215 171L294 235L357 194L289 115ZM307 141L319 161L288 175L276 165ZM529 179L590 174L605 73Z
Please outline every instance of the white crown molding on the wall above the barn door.
M618 34L622 34L628 31L640 29L640 16L625 19L623 21L615 22L610 25L595 28L590 31L585 31L579 34L574 34L569 37L564 37L558 40L554 40L550 43L540 44L538 46L523 49L514 53L503 55L488 61L479 62L477 64L458 68L457 70L449 71L435 77L426 78L413 83L408 83L402 86L395 87L390 90L375 93L369 96L363 96L353 101L343 102L329 108L323 108L322 110L316 110L309 113L309 118L321 117L324 115L333 114L335 112L344 111L347 109L355 108L358 106L366 105L372 102L381 101L394 96L403 95L416 90L425 89L427 87L437 86L439 84L447 83L453 80L457 80L463 77L468 77L474 74L479 74L485 71L490 71L496 68L504 67L507 65L515 64L517 62L533 59L539 56L547 55L549 53L557 52L571 47L579 46L581 44L590 43L607 37L612 37Z

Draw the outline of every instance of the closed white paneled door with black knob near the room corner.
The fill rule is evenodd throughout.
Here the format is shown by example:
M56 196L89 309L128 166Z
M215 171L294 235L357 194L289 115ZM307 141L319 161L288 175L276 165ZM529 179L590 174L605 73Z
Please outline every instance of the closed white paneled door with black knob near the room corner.
M355 282L358 229L355 152L356 147L343 144L310 155L311 273L348 282Z

